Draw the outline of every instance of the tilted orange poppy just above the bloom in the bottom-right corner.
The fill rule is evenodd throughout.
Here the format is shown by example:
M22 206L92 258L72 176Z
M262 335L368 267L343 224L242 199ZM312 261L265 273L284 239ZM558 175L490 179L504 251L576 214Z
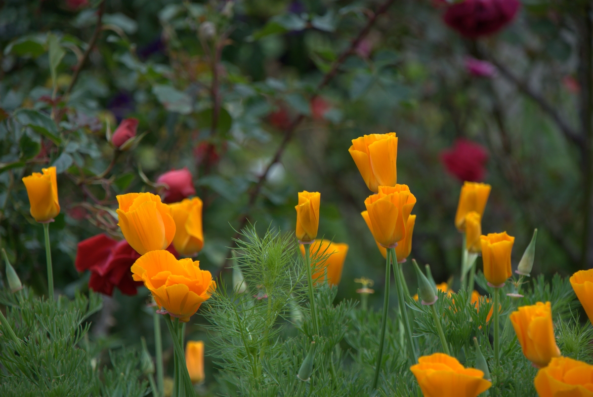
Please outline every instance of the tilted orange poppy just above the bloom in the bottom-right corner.
M560 350L554 337L550 302L521 306L509 316L517 333L523 354L537 367L545 367Z

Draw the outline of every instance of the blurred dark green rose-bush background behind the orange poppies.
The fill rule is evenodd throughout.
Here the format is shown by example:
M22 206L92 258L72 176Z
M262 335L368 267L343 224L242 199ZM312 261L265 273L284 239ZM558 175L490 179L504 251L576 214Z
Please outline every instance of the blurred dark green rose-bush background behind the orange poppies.
M251 222L292 233L297 192L320 191L320 235L350 246L337 299L358 299L361 276L379 291L384 260L360 216L371 192L348 148L387 132L399 139L398 183L417 198L411 257L431 264L437 282L458 283L453 221L464 180L492 185L483 232L515 236L514 266L538 228L534 274L591 267L589 1L0 7L0 240L39 294L43 230L21 178L47 165L59 172L62 213L50 231L60 293L88 288L88 272L74 267L79 241L121 237L115 196L158 191L160 175L183 167L204 202L202 268L232 284L235 230ZM21 108L52 117L61 139L15 116ZM132 117L145 135L116 153L106 132ZM94 319L94 337L111 346L138 344L139 335L151 341L147 297L144 287L131 297L116 289ZM371 305L381 299L371 296ZM207 323L196 315L188 337L207 340ZM213 390L216 367L206 361L203 387Z

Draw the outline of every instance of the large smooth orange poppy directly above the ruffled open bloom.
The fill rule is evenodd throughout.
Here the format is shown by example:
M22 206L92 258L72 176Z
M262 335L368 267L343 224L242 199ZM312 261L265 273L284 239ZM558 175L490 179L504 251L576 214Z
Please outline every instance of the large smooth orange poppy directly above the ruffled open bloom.
M117 196L119 225L127 242L140 255L165 249L175 236L171 209L152 193L128 193Z

